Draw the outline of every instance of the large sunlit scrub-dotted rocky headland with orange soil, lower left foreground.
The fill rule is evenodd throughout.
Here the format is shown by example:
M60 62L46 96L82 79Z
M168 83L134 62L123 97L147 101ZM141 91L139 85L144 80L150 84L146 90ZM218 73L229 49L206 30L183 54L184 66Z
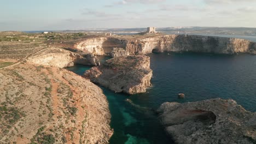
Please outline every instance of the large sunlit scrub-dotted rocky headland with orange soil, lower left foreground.
M65 69L19 64L0 70L0 143L108 143L102 89Z

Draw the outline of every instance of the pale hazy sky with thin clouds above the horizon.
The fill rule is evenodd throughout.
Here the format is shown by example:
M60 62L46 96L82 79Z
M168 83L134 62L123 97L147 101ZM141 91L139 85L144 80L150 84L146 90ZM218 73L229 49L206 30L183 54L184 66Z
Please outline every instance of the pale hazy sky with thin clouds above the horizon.
M0 31L256 27L256 0L0 0Z

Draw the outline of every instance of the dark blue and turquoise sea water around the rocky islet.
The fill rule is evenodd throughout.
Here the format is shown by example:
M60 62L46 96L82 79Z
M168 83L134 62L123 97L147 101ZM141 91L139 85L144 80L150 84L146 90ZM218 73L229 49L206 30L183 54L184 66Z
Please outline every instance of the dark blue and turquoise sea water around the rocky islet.
M114 135L110 143L173 143L153 111L137 109L125 101L157 109L165 101L234 99L246 110L256 111L256 56L208 53L150 54L152 84L144 94L126 95L103 88L112 114ZM83 74L84 65L68 68ZM177 94L184 93L185 99Z

